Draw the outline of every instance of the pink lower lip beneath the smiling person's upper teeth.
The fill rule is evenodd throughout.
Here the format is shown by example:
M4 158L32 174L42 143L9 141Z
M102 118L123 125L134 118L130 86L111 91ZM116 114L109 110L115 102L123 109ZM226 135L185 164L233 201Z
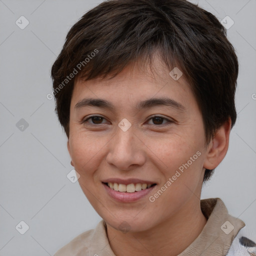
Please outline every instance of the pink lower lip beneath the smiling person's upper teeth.
M106 189L107 193L114 198L115 200L119 201L119 202L133 202L136 201L140 198L142 198L143 196L147 195L150 191L152 191L154 189L154 186L150 186L146 189L142 189L140 191L136 191L136 192L120 192L120 191L115 191L112 188L110 188L109 186L107 186L106 184L102 183L104 185L104 188Z

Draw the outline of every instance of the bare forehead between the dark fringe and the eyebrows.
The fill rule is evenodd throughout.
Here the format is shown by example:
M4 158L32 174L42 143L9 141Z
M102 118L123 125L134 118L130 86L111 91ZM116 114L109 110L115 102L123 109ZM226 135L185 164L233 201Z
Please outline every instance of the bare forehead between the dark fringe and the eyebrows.
M174 69L175 70L175 69ZM109 75L104 79L98 77L84 81L76 79L71 99L71 107L83 98L105 98L114 105L123 102L122 106L137 105L142 99L168 97L189 106L195 103L190 85L181 75L177 80L173 79L173 72L161 64L154 62L150 68L148 65L137 61L127 65L113 78ZM180 75L180 73L179 73Z

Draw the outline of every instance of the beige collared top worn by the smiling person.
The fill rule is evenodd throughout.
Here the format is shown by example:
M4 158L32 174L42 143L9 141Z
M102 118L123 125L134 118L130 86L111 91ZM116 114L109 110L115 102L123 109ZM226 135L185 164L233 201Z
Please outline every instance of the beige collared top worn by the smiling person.
M253 255L249 254L246 247L239 243L239 236L237 236L237 233L245 226L244 222L229 215L220 198L202 199L200 206L207 222L197 238L177 256ZM76 236L54 254L54 256L82 255L115 256L108 242L106 223L103 219L95 229Z

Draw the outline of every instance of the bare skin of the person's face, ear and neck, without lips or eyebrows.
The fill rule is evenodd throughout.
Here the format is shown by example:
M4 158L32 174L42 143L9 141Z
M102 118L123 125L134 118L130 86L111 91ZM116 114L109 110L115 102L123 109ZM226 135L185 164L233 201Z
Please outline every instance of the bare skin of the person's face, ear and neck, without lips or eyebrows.
M71 98L68 151L84 194L107 224L109 243L117 256L172 256L188 247L206 223L200 209L205 168L215 168L228 148L230 119L206 145L201 112L184 75L175 81L159 59L154 63L154 71L136 62L108 80L77 79ZM179 102L184 110L164 105L135 107L140 100L163 96ZM106 99L114 109L75 108L88 97ZM172 122L151 119L154 114ZM82 123L91 115L103 118L94 119L96 124L92 119ZM131 123L125 132L118 127L123 118ZM197 151L201 155L150 202L148 197ZM157 185L135 202L117 202L101 183L109 177L135 177ZM119 226L123 221L128 232Z

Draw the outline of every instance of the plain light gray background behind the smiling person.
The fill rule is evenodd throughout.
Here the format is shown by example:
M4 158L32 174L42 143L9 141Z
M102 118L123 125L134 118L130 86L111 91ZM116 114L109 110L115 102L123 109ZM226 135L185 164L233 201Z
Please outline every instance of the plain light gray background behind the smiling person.
M101 219L78 182L66 177L72 169L66 137L54 114L53 99L46 98L51 92L50 68L67 31L100 2L0 0L1 256L53 255ZM256 0L199 0L198 4L219 20L228 15L234 21L228 38L240 64L237 123L227 155L203 187L202 198L220 197L256 240ZM24 29L15 24L21 15L29 21ZM21 118L28 127L20 126ZM29 226L23 235L15 228L21 220Z

